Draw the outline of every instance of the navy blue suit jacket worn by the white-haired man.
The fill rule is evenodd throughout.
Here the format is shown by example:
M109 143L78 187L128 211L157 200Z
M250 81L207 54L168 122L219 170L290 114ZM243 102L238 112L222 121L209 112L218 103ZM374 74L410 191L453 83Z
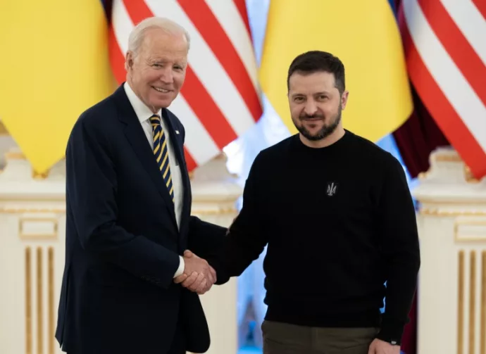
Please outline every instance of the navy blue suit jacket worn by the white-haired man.
M173 283L179 255L209 257L226 229L191 213L185 130L163 109L180 164L180 229L123 85L86 110L66 149L66 265L56 339L68 353L166 353L177 321L188 351L210 343L199 296ZM175 134L178 130L180 134Z

